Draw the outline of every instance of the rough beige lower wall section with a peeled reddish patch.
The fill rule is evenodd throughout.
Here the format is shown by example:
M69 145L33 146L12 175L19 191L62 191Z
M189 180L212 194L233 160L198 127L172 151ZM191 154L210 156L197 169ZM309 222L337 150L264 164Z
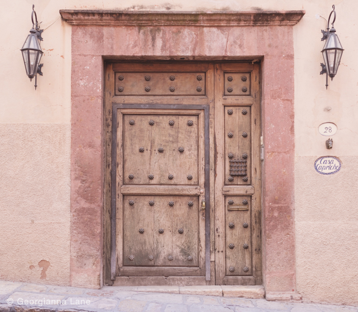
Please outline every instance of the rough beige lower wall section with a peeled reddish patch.
M69 285L70 142L70 124L0 124L0 279Z

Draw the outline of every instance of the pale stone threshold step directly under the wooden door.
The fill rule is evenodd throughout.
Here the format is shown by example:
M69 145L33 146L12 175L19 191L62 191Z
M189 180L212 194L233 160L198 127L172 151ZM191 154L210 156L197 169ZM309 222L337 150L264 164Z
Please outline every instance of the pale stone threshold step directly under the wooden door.
M218 297L236 297L248 299L265 298L265 288L261 285L256 286L103 286L101 290L111 291L131 291L146 293L166 293L181 295L200 295L200 296L218 296Z

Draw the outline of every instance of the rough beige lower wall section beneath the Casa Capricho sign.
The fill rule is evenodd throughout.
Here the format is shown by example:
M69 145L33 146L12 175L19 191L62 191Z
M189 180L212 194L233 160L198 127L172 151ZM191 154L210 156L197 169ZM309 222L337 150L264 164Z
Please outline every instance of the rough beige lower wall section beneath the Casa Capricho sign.
M358 157L339 157L332 175L315 171L318 157L296 157L297 289L305 301L358 305Z

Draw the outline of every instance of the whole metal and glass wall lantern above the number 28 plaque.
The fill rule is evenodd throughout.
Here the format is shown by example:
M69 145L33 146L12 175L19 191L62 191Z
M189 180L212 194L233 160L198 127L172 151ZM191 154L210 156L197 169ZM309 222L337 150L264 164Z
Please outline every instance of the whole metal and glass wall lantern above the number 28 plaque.
M321 75L324 73L326 74L326 89L328 87L328 76L331 78L331 80L333 80L335 74L337 74L338 66L340 65L341 57L343 54L342 44L338 36L335 34L335 29L333 27L335 21L334 5L332 8L333 11L329 14L328 17L327 31L321 30L323 33L321 41L327 40L322 50L324 64L321 63L322 71L320 72ZM332 13L334 13L334 18L332 21L332 28L329 30L329 20Z

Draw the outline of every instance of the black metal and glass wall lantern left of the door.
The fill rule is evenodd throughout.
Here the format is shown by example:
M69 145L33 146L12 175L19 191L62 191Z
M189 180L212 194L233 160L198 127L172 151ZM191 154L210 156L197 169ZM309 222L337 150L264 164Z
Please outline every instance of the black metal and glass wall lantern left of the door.
M40 30L34 7L35 6L32 5L32 13L31 13L32 29L30 30L30 34L27 36L25 40L23 48L20 50L23 53L26 74L29 76L30 81L32 80L32 78L35 77L35 90L36 90L37 74L42 76L41 67L43 64L40 64L40 60L43 52L40 47L40 41L42 40L41 34L43 30ZM34 14L35 14L35 23L34 23Z

